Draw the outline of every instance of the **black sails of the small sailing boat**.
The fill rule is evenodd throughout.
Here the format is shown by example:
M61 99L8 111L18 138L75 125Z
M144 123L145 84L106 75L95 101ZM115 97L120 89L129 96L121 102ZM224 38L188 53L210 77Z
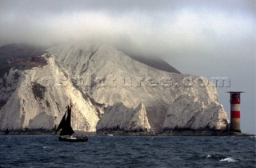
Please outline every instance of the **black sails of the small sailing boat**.
M60 129L62 129L60 135L74 134L74 130L71 127L71 106L67 106L67 111L64 114L56 132Z

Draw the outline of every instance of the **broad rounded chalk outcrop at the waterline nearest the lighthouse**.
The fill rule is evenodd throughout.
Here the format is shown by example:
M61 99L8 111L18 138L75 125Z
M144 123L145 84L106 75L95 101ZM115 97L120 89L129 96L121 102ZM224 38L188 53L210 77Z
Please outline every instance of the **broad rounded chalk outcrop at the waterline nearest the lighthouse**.
M217 102L205 106L191 95L178 97L170 106L164 130L225 130L226 111Z

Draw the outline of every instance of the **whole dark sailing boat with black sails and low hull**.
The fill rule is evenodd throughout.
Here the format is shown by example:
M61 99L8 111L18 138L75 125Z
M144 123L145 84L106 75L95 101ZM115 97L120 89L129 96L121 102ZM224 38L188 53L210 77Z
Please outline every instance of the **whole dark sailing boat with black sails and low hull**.
M71 126L71 109L72 103L70 102L70 106L66 106L66 113L64 114L62 121L59 123L55 134L57 134L58 130L61 130L58 135L59 141L67 141L67 142L86 142L88 141L87 135L74 135L74 130Z

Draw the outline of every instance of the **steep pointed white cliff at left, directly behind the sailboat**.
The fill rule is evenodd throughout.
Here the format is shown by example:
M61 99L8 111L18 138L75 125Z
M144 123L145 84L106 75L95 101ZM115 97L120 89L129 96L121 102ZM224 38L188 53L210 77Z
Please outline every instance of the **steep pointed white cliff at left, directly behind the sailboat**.
M18 74L15 81L13 74ZM54 58L48 65L33 70L10 70L6 85L14 83L8 95L1 94L5 106L0 110L1 130L46 129L60 122L66 106L73 101L72 122L75 130L95 131L98 110L82 92L76 89ZM5 90L2 87L2 92Z

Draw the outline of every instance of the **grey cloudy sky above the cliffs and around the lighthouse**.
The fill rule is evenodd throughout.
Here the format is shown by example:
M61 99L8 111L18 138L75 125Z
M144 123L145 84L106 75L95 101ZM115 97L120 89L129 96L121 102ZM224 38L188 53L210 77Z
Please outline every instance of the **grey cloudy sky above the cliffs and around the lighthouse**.
M256 134L254 0L1 0L0 46L103 42L126 54L162 58L183 74L228 78L242 90L242 132Z

